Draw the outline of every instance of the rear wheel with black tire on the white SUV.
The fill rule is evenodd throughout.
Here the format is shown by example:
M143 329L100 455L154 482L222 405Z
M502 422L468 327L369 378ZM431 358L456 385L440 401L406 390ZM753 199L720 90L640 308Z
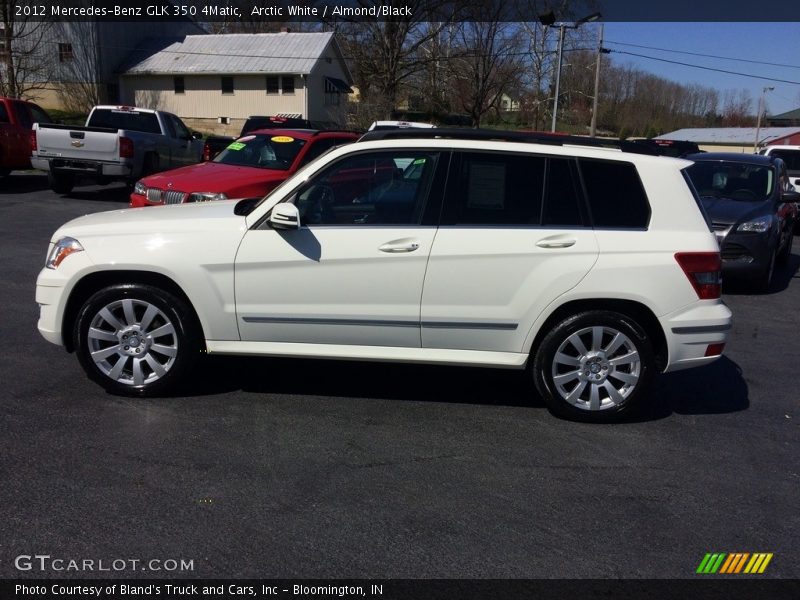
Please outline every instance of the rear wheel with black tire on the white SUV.
M647 395L655 358L634 319L593 310L557 323L542 339L531 368L536 389L554 415L609 423L629 414Z

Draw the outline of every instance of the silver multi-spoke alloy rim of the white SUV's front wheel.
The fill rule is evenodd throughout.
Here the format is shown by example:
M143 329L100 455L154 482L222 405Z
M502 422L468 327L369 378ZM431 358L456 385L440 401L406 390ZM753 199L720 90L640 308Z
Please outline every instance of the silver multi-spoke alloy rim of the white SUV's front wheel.
M97 368L124 385L160 379L178 355L175 326L144 300L125 298L106 304L92 319L86 338Z

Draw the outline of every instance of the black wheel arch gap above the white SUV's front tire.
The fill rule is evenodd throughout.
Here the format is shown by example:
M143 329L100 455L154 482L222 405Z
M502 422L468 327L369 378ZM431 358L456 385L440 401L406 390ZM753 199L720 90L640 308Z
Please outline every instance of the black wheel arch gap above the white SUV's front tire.
M61 319L61 339L64 342L66 350L68 352L74 352L75 350L72 340L72 328L75 324L75 319L78 317L81 306L83 306L92 294L112 285L137 284L158 287L183 300L186 306L191 310L194 325L200 332L200 339L203 343L202 350L205 351L205 332L203 330L203 324L200 321L194 304L181 286L161 273L135 270L96 271L94 273L89 273L75 284L67 300L67 305L64 309L64 317Z

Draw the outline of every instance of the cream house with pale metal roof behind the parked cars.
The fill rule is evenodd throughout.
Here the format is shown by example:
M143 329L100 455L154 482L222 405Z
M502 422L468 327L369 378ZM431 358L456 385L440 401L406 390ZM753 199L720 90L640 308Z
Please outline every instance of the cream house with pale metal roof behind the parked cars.
M333 33L187 35L140 45L121 69L123 102L238 132L251 115L344 125L352 75Z

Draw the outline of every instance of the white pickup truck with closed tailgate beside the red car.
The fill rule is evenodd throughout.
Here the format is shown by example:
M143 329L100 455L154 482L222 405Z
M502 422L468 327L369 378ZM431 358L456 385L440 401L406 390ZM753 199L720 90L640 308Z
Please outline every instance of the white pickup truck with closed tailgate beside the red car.
M31 164L50 187L72 191L76 178L125 181L200 162L202 136L175 115L131 106L95 106L85 127L37 123Z

